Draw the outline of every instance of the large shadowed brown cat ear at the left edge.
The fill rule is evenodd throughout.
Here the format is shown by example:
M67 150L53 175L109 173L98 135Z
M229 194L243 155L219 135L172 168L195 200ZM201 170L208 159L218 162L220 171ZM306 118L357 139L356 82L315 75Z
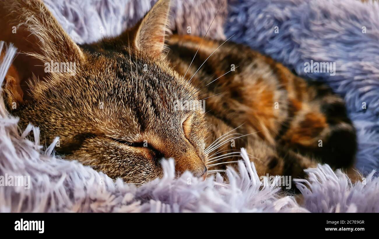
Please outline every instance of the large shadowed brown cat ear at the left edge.
M8 101L32 99L38 93L33 87L38 81L49 85L62 79L47 65L77 65L83 59L80 48L40 0L0 1L0 23L0 40L12 43L19 52L5 78Z

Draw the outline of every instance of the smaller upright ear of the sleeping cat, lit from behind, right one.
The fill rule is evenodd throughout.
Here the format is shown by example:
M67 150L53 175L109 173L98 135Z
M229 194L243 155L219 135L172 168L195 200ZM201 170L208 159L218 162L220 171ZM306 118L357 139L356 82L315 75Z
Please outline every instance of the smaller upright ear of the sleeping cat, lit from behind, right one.
M144 18L135 26L133 42L139 51L153 56L161 54L164 49L170 0L159 0Z

